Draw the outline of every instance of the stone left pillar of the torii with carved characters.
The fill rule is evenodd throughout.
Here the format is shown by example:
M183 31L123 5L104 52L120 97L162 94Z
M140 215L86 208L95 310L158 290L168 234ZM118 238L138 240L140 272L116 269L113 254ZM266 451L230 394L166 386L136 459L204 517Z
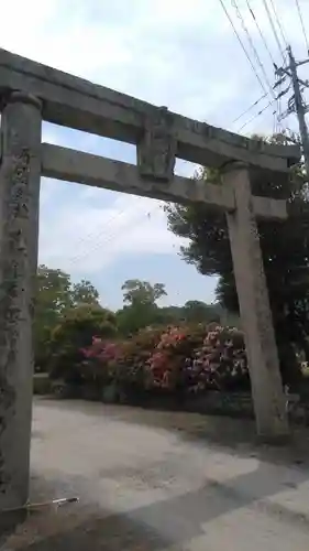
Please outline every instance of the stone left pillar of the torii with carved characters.
M29 498L41 102L4 98L0 166L0 517Z

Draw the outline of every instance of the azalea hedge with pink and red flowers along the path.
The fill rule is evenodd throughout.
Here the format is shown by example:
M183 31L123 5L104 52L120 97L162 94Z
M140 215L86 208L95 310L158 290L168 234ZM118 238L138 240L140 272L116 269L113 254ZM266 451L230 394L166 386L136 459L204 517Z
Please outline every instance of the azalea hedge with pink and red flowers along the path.
M81 383L117 385L131 397L250 388L243 334L234 327L184 324L147 327L125 341L95 336L77 355Z

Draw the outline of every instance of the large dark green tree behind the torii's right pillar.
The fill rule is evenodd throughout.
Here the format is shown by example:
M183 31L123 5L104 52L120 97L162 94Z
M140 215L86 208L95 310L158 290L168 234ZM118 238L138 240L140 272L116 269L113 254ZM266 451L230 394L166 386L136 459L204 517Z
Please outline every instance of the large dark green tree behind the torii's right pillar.
M283 143L283 136L271 141ZM221 185L218 171L203 169L196 177ZM309 357L309 203L308 185L301 166L290 177L253 182L256 195L287 198L289 217L285 223L258 222L271 306L279 348L284 380L297 378L296 350ZM205 205L168 205L169 229L189 240L183 258L206 276L219 276L217 298L230 312L239 311L229 234L224 213Z

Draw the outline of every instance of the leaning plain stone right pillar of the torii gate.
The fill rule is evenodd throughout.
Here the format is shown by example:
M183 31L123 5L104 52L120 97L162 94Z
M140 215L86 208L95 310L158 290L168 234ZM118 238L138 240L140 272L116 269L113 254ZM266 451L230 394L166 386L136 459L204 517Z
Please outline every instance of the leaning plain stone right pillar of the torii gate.
M225 165L223 184L234 190L235 210L227 213L230 245L249 360L257 435L280 442L289 434L249 166Z

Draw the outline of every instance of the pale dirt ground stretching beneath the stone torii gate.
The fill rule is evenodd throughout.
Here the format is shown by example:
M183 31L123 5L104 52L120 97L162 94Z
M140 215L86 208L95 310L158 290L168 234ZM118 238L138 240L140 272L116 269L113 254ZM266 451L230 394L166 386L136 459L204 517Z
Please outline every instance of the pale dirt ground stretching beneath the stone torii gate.
M38 399L31 500L79 503L31 514L0 549L304 551L308 452L304 429L275 449L251 421Z

